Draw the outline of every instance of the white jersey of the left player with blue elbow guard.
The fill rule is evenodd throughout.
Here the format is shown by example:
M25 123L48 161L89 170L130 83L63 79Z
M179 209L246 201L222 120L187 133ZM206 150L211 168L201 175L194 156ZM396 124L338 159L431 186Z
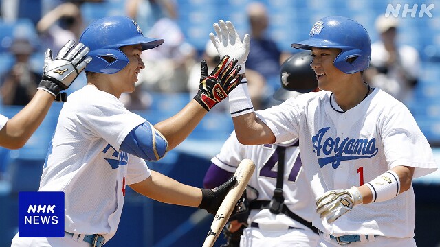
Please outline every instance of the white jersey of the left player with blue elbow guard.
M65 231L101 234L105 242L115 235L125 186L151 174L143 159L119 151L126 135L144 122L115 96L95 86L84 86L69 96L52 137L39 189L65 192Z

